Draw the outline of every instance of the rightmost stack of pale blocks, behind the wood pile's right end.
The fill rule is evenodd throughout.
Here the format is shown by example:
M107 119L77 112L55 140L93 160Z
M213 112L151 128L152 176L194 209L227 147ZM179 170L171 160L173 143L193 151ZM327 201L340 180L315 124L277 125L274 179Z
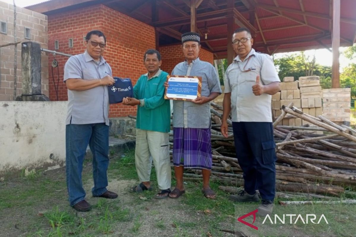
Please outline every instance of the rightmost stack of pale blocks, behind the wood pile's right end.
M350 122L351 88L323 90L323 116L335 123Z

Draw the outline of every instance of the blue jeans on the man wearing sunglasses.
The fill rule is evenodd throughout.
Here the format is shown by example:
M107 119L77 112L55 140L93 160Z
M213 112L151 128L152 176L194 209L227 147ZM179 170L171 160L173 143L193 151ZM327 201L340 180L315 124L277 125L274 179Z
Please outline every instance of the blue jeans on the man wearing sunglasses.
M109 126L105 123L66 125L66 174L71 206L85 199L82 184L83 161L87 147L93 153L93 196L106 192L109 166Z

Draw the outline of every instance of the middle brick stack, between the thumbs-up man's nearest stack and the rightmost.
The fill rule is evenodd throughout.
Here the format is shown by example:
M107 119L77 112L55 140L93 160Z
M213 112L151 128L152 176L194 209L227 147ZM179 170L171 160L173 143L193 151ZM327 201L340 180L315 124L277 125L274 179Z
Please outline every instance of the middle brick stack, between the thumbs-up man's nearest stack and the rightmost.
M323 115L321 98L323 92L320 86L319 76L301 76L299 77L300 98L302 100L302 111L314 117ZM310 124L303 120L302 125Z

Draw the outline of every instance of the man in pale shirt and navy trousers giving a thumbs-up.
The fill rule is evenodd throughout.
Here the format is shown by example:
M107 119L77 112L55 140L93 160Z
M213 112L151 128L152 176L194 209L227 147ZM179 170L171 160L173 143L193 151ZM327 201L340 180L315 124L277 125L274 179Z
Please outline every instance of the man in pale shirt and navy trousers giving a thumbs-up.
M226 70L221 133L227 137L227 117L232 110L236 156L244 172L244 189L231 195L234 201L259 201L258 214L271 214L276 183L276 153L273 140L271 95L277 93L279 78L272 58L252 49L251 32L237 29L232 46L237 54Z

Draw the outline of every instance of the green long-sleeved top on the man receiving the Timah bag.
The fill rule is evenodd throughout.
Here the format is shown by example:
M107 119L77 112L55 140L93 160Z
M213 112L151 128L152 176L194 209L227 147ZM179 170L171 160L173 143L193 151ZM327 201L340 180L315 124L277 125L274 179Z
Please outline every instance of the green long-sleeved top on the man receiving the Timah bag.
M171 107L168 99L164 99L164 82L167 72L159 69L148 79L148 72L138 79L133 87L133 96L141 105L137 108L136 128L142 130L168 133L171 127Z

